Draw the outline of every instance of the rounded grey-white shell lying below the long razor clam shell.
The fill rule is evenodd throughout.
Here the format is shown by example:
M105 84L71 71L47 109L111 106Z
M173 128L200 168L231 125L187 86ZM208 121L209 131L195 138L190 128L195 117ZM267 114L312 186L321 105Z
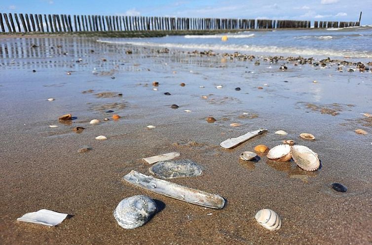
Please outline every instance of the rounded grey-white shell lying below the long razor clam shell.
M156 212L155 202L145 195L125 198L116 206L113 216L125 229L134 229L144 225Z

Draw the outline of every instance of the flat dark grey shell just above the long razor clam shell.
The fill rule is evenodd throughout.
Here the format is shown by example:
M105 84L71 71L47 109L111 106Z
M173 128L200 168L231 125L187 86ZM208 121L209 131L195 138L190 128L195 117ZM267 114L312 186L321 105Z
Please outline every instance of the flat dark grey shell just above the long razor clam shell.
M160 161L149 168L150 173L163 179L180 177L195 177L201 175L202 171L195 162L185 159L178 161Z

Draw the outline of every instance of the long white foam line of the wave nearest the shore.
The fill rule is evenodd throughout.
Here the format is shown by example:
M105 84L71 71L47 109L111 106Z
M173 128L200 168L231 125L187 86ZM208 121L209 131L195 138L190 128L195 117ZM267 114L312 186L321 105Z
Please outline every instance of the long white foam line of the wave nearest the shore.
M189 49L189 50L214 50L214 51L239 51L249 53L268 53L274 55L301 55L301 56L321 56L321 57L355 57L355 58L372 58L371 52L352 52L337 50L322 50L311 48L294 48L294 47L277 47L277 46L258 46L258 45L222 45L222 44L180 44L180 43L153 43L153 42L133 42L133 41L112 41L97 40L98 42L110 44L129 44L144 47Z

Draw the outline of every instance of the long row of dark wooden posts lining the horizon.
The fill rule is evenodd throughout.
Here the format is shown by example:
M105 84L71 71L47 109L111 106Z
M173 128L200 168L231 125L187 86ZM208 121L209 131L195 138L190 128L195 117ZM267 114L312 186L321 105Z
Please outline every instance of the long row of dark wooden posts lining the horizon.
M314 28L351 26L359 22L314 22ZM1 32L246 30L310 28L310 21L0 13L0 28Z

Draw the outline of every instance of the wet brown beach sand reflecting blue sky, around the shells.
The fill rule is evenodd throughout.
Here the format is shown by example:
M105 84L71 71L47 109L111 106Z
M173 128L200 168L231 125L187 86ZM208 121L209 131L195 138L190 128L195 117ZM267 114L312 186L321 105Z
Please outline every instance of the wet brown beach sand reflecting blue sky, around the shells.
M372 113L371 72L347 72L349 66L339 72L336 62L320 68L259 57L239 61L93 38L0 43L1 244L371 244L372 120L360 114ZM283 63L288 70L279 70ZM159 82L157 91L153 81ZM103 122L113 114L107 110L122 118ZM67 113L77 118L58 122ZM207 123L209 116L217 122ZM92 119L102 122L90 125ZM75 126L85 129L77 134ZM260 127L268 132L232 150L219 146ZM369 134L358 135L357 128ZM288 135L274 134L279 129ZM299 138L302 132L316 140ZM98 135L108 140L95 140ZM305 172L293 161L265 155L257 163L239 161L242 151L258 144L272 148L284 139L318 153L321 169ZM92 150L78 153L84 145ZM200 164L203 174L171 182L221 195L223 209L121 180L132 169L149 175L141 158L173 151ZM335 192L334 182L347 192ZM160 211L144 226L125 230L113 210L138 194L157 200ZM280 230L256 222L254 215L264 208L281 216ZM39 209L74 216L52 228L16 220Z

